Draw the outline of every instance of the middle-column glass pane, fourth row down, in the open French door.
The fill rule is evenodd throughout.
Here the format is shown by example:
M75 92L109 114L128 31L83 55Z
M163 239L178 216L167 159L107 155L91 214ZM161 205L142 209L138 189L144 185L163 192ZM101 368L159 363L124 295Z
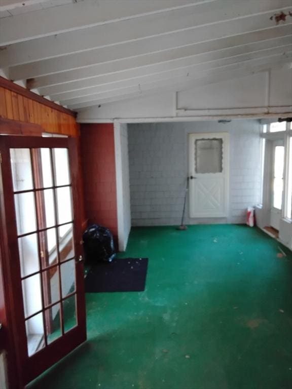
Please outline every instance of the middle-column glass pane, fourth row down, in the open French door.
M60 284L58 266L43 272L44 302L48 306L60 300Z

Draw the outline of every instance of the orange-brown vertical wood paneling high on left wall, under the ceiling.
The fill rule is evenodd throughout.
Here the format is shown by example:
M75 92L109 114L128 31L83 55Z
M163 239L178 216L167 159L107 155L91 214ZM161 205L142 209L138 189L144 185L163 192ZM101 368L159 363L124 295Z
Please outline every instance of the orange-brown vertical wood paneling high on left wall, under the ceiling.
M0 118L41 126L40 132L79 136L74 112L0 77ZM35 134L35 131L33 132Z

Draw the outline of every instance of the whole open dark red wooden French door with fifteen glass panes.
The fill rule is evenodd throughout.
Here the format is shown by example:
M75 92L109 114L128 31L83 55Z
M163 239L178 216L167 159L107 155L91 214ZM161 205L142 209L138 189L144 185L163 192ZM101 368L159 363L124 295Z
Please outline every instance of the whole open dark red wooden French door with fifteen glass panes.
M74 138L0 137L5 280L24 385L86 340Z

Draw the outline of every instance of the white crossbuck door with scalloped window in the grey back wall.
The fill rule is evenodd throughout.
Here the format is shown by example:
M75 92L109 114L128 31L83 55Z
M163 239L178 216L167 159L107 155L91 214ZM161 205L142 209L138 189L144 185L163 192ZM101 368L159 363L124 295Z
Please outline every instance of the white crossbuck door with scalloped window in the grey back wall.
M227 217L229 134L190 134L190 217Z

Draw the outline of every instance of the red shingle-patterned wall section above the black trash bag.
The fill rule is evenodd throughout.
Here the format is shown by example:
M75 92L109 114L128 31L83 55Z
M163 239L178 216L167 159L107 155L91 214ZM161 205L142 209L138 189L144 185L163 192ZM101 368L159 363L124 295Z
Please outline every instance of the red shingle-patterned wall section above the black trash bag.
M81 160L85 216L104 225L118 239L114 125L81 125Z

